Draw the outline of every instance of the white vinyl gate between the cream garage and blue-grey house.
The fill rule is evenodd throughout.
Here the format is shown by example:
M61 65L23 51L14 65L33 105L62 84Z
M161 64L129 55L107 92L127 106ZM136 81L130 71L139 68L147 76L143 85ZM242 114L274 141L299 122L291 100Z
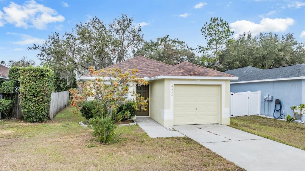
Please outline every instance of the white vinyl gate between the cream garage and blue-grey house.
M231 92L230 116L249 116L260 114L260 91Z

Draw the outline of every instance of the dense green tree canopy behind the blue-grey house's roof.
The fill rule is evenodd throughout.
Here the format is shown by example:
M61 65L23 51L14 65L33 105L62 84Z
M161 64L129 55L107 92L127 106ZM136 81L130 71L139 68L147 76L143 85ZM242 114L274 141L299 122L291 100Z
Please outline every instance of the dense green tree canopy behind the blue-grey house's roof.
M220 71L253 66L266 69L290 64L303 63L304 44L299 44L288 33L282 37L276 33L260 33L252 36L243 33L227 43L220 53Z

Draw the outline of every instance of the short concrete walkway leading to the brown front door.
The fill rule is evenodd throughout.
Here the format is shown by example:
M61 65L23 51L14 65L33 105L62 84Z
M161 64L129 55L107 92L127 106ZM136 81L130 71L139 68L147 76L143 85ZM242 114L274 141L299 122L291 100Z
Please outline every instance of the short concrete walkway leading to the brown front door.
M135 121L151 138L185 136L178 131L166 129L150 117L137 117Z

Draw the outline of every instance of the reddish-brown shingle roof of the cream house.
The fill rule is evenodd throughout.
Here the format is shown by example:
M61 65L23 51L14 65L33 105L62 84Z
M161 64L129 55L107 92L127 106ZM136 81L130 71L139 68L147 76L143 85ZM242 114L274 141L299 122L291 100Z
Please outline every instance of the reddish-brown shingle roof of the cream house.
M143 56L137 56L126 61L111 65L107 68L120 68L122 72L127 69L137 68L139 70L139 77L154 78L158 76L193 76L193 77L226 77L237 79L235 76L223 72L215 71L213 69L205 68L189 62L181 62L176 65L168 65L159 61L155 61ZM87 77L87 78L86 78ZM83 75L81 79L88 79L89 74ZM160 78L159 78L160 79Z

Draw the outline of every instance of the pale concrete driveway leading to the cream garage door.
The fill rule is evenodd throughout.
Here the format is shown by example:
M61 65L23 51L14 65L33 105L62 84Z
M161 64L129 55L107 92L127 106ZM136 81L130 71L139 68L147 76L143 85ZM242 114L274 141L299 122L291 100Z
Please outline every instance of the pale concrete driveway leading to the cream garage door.
M305 151L226 125L176 125L185 136L248 171L303 171Z

